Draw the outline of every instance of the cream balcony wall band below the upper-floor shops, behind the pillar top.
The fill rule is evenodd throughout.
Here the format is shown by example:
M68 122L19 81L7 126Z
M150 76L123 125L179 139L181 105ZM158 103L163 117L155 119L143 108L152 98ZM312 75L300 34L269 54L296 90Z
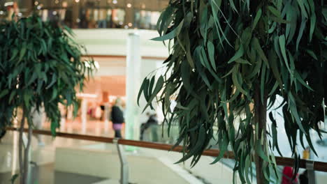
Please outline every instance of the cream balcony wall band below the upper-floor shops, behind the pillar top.
M162 42L150 40L159 36L157 31L137 29L73 29L75 40L85 45L87 54L103 56L126 56L129 33L140 35L140 50L143 57L165 59L168 47Z

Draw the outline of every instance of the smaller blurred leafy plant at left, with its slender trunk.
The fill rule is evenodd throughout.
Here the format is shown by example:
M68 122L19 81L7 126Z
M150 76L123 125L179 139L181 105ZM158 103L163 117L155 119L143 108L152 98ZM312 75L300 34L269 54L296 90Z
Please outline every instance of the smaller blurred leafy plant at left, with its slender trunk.
M1 22L0 32L0 129L10 126L18 109L22 110L20 183L27 183L33 111L45 109L55 135L61 118L59 103L77 107L75 86L82 89L94 61L82 59L83 48L72 40L70 29L56 22L42 22L37 15ZM25 122L29 141L23 148Z

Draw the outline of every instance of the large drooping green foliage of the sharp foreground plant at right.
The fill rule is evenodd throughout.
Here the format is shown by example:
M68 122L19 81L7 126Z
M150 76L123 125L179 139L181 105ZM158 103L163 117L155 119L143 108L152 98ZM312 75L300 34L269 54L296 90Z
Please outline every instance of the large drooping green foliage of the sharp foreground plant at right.
M153 40L173 40L163 62L167 71L157 82L147 77L139 98L143 93L145 108L158 99L168 127L178 119L180 162L193 157L196 164L217 134L221 152L215 162L231 146L242 183L252 182L252 162L257 183L268 183L277 172L273 150L279 146L275 116L269 114L268 128L266 114L278 97L284 99L280 108L293 157L299 159L297 136L314 151L310 130L321 136L326 106L326 2L170 0L157 29L160 37Z

